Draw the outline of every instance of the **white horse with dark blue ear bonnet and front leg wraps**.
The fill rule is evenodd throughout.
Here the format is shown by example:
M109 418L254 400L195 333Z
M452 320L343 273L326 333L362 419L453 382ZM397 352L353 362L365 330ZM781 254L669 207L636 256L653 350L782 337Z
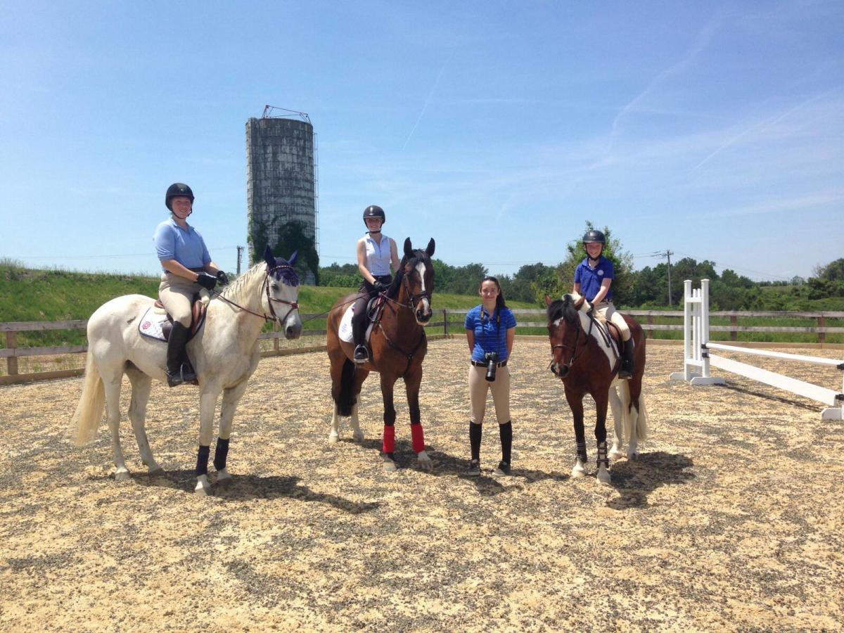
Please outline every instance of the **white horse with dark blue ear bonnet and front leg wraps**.
M299 278L289 260L273 257L266 249L264 261L257 263L236 279L208 304L203 327L187 344L199 381L199 451L197 456L197 494L208 495L208 455L214 426L214 407L223 393L219 437L214 452L217 481L224 483L231 423L235 408L246 391L246 381L261 357L258 334L264 323L276 320L285 338L299 338ZM70 422L68 436L77 445L95 439L103 408L111 430L116 479L128 479L129 471L120 447L120 388L125 373L132 383L129 419L143 463L150 473L162 468L149 450L144 421L149 390L155 380L166 382L167 344L142 336L138 322L153 299L143 295L124 295L100 306L88 321L88 360L82 396ZM281 304L274 307L273 303ZM286 309L285 309L286 308ZM182 387L184 388L184 387Z

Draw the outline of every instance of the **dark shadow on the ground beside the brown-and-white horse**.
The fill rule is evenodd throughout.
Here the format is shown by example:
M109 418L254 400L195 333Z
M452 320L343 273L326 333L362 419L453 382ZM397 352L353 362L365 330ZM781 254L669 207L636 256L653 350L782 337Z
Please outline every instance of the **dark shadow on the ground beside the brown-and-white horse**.
M688 470L694 465L690 457L664 451L645 452L635 461L616 462L610 468L611 485L619 496L607 500L607 506L614 510L646 508L647 495L660 486L695 479L695 473Z

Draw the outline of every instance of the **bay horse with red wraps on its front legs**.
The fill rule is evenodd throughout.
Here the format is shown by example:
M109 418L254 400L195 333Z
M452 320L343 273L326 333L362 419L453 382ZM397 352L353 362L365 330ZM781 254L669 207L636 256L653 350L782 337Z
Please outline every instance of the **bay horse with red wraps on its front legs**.
M419 413L419 387L422 383L422 361L428 349L425 324L433 314L430 306L434 292L434 265L430 261L433 254L433 239L424 251L414 251L409 237L404 241L404 256L396 278L382 294L384 305L381 314L372 323L371 354L366 363L354 363L354 344L340 336L344 313L357 295L348 295L338 300L328 313L327 350L331 360L331 396L334 401L328 441L338 441L340 417L351 418L354 441L363 441L364 434L358 420L360 387L371 371L377 371L381 375L381 396L384 399L381 448L387 471L397 468L394 457L396 408L393 406L392 394L399 378L403 379L408 396L410 437L419 466L425 470L432 468L430 457L425 452L425 435Z

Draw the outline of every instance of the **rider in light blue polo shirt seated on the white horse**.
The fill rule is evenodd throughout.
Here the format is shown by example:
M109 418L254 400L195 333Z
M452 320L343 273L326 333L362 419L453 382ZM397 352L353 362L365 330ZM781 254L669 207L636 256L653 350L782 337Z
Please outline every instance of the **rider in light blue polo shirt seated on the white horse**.
M170 218L155 227L153 241L164 269L159 299L173 318L167 341L167 384L176 387L197 379L190 367L183 364L193 295L200 288L213 290L218 281L228 284L229 278L211 261L203 236L187 224L187 216L193 213L191 187L182 182L167 187L165 206L170 210Z

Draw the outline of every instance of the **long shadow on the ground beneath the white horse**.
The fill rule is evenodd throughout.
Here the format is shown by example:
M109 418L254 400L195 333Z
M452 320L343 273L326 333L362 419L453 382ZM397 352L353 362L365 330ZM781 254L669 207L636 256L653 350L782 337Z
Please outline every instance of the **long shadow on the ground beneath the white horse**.
M197 483L196 473L192 470L170 470L156 474L133 473L132 479L141 485L180 490L190 495L194 494L193 489ZM216 483L213 473L208 474L208 479L212 483L213 495L226 502L287 497L324 503L349 514L363 514L381 506L377 501L360 503L337 495L314 492L306 485L299 484L299 477L232 474L231 479L222 485Z

